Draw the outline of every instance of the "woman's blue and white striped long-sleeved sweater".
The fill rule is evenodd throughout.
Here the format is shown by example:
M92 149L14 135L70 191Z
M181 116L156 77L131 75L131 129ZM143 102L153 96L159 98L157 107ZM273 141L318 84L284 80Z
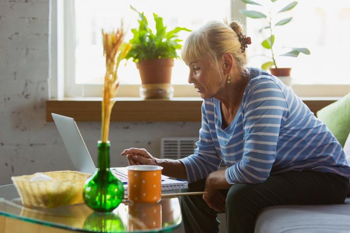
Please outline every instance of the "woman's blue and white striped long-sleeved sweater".
M232 123L221 127L220 102L204 100L194 154L181 159L190 183L228 167L228 183L262 183L270 174L313 169L350 179L344 151L326 125L279 79L251 68Z

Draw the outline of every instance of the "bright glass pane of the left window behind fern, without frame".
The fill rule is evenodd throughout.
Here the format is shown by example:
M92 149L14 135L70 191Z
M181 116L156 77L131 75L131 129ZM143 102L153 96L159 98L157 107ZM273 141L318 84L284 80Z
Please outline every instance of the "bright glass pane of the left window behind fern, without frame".
M123 17L125 28L137 28L139 16L130 9L132 5L143 11L151 29L155 29L152 13L163 17L163 23L171 30L177 26L196 29L206 21L222 20L229 17L229 2L218 0L215 4L204 5L200 0L169 1L152 0L152 4L144 0L75 0L75 82L79 84L102 83L105 73L105 59L102 51L101 29L110 30L120 25ZM185 40L188 32L180 32L179 37ZM125 41L132 37L127 31ZM135 64L129 60L126 67L121 64L119 77L121 84L140 84L140 75ZM173 68L173 83L187 83L188 67L179 59Z

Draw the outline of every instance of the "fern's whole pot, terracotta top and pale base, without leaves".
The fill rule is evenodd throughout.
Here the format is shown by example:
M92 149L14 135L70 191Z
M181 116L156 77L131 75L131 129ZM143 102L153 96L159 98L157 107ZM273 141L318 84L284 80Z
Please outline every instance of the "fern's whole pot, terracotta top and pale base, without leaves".
M174 89L171 85L174 59L162 58L142 60L136 63L139 69L142 85L140 96L145 99L171 98Z

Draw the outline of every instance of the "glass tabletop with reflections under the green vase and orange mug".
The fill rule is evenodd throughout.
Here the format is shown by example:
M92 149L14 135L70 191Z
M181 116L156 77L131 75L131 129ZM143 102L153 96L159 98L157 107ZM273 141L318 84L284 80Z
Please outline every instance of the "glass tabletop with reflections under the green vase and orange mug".
M76 204L52 209L22 205L13 184L0 186L0 215L77 232L163 232L181 224L178 198L162 199L153 204L123 202L112 213L93 212L87 205Z

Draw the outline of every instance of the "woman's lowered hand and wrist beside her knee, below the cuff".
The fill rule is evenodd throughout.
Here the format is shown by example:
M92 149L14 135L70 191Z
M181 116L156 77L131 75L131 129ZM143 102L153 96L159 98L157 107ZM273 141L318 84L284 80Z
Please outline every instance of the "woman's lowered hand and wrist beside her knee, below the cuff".
M214 171L207 177L203 194L203 200L209 207L218 213L226 210L226 195L231 184L227 183L225 170Z

